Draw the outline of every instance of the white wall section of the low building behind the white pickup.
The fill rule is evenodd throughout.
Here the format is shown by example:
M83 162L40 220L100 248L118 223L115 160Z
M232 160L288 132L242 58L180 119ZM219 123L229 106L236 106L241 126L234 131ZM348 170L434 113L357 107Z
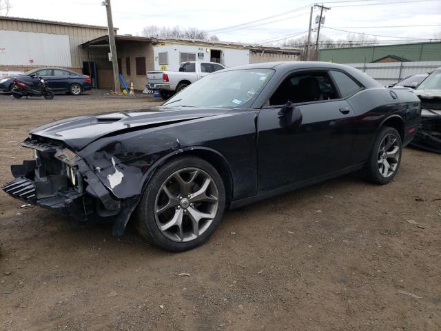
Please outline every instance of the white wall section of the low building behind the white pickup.
M227 68L234 66L243 66L249 64L249 50L236 50L233 48L212 48L214 50L222 50L223 61ZM168 64L165 66L160 66L158 62L158 53L168 52ZM210 61L210 48L203 46L192 46L192 45L165 45L165 46L154 46L154 70L170 70L178 71L180 64L180 53L194 53L196 54L196 61ZM203 59L198 59L198 53L203 54Z

